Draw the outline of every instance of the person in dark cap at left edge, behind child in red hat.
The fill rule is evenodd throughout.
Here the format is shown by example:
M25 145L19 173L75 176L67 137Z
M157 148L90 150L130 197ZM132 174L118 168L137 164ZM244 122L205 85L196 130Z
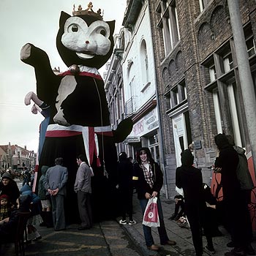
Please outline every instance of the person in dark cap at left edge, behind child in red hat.
M16 200L20 196L18 185L15 181L13 181L10 173L6 172L1 177L0 195L8 195L8 197L10 198L10 203L12 205L16 204Z

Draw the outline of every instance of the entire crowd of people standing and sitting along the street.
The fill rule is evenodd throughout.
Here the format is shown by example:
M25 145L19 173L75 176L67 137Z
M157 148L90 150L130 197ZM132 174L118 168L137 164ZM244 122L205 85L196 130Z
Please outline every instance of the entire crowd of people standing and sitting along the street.
M214 236L222 236L219 224L223 224L230 233L232 246L225 256L255 255L251 246L252 225L249 216L248 203L250 192L254 188L250 177L244 149L235 146L230 135L219 134L214 141L218 154L214 163L214 172L222 176L222 202L211 193L208 184L203 183L200 168L195 164L193 150L181 153L181 166L176 169L176 188L179 193L174 197L176 207L170 216L171 221L181 222L192 233L195 255L203 255L203 238L207 244L204 249L214 254ZM93 227L93 211L91 208L91 177L94 172L86 163L86 156L78 156L78 172L75 178L74 191L77 193L80 227L78 230L88 230ZM12 237L18 225L18 211L29 211L27 222L28 242L42 238L37 225L53 227L54 230L65 230L67 227L64 211L64 199L67 193L67 167L63 166L61 157L55 159L55 166L41 167L41 177L38 182L38 195L32 192L31 177L26 176L23 187L19 190L10 173L4 173L0 183L0 243ZM118 194L120 198L121 225L135 225L133 219L132 197L138 195L141 212L144 215L148 200L157 197L157 210L160 244L176 245L167 236L160 200L163 185L163 174L157 162L151 156L147 147L140 148L137 158L127 157L125 152L118 155L117 168ZM221 217L222 222L218 219ZM127 217L129 220L127 221ZM237 221L239 219L239 222ZM181 227L182 227L181 225ZM143 224L143 233L148 249L159 251L154 243L151 227ZM1 245L1 244L0 244Z

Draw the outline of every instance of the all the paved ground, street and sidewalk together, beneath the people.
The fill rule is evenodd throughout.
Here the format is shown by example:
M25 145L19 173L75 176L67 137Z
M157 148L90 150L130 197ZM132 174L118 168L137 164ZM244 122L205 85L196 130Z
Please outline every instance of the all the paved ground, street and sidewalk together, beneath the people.
M142 228L142 214L137 194L133 197L133 217L136 225L120 225L119 219L95 223L91 230L78 231L78 225L70 225L67 230L56 232L52 228L37 227L42 239L32 242L26 246L26 255L97 255L97 256L191 256L195 255L192 244L191 231L182 228L178 222L169 220L173 214L175 202L172 199L161 197L162 209L165 219L165 227L170 240L176 241L175 246L161 246L159 252L152 252L147 249ZM128 220L128 219L127 219ZM224 227L219 230L223 236L214 237L214 255L224 255L230 251L226 246L230 242L230 236ZM152 228L155 244L160 246L157 228ZM203 245L206 245L206 238L203 236ZM252 247L256 249L256 239L252 241ZM2 256L14 255L13 245L5 248L6 253ZM207 252L204 252L208 256Z

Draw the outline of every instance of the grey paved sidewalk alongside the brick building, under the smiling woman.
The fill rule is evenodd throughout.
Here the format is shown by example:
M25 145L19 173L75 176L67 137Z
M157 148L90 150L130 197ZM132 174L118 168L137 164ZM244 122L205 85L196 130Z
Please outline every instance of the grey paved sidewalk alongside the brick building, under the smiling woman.
M165 199L165 197L161 197L162 202L162 210L165 219L165 227L167 230L167 235L170 240L176 241L176 246L161 246L161 250L157 252L152 252L147 249L145 244L145 239L143 235L142 228L142 214L140 210L140 204L137 198L137 194L134 194L133 197L133 218L136 220L136 225L122 225L124 230L127 231L129 237L132 241L137 244L138 248L142 255L184 255L190 256L195 255L194 246L192 243L191 231L187 228L181 228L178 226L178 223L174 220L169 220L168 218L173 214L175 203L173 200ZM216 253L214 256L222 256L225 252L229 252L231 249L226 246L228 242L230 242L230 235L224 229L224 227L219 227L219 230L222 232L223 236L214 237L214 249ZM152 234L154 236L155 244L160 245L159 236L157 233L157 228L152 228ZM206 238L203 236L203 246L206 246ZM256 249L256 241L252 242L252 247ZM204 252L204 255L209 255L207 252Z

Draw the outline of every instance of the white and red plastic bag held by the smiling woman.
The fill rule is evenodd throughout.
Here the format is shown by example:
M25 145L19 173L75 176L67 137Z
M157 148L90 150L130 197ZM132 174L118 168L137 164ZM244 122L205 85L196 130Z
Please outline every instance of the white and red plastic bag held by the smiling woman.
M143 225L148 227L159 227L159 215L157 209L157 197L151 197L148 199L148 203L143 214Z

